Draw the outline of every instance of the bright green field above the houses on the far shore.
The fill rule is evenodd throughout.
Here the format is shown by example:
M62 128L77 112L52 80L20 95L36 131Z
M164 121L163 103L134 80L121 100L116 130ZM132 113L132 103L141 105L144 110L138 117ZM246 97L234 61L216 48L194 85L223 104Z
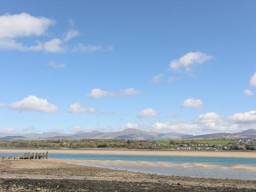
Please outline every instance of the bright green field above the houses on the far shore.
M191 140L191 139L184 139L184 140L173 140L175 143L208 143L208 144L221 144L226 145L232 140ZM170 140L161 140L156 141L156 144L168 144L170 143Z

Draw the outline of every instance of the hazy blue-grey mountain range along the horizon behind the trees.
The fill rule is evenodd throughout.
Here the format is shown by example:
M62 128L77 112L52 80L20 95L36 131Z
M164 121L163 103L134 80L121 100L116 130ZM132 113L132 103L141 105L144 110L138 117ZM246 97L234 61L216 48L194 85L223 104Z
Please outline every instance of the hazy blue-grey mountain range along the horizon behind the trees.
M213 133L206 135L186 135L177 132L159 133L146 132L138 129L126 129L118 132L77 132L74 134L65 134L60 132L50 133L28 133L28 134L10 134L1 135L0 140L46 140L46 139L136 139L136 140L167 140L167 139L238 139L238 138L256 138L256 130L249 129L239 133Z

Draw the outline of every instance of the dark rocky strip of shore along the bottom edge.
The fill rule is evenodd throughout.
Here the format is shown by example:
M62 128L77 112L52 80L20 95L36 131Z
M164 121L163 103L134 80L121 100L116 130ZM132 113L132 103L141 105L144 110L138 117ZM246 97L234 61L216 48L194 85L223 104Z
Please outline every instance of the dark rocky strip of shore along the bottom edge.
M249 188L72 179L0 179L0 191L255 191Z

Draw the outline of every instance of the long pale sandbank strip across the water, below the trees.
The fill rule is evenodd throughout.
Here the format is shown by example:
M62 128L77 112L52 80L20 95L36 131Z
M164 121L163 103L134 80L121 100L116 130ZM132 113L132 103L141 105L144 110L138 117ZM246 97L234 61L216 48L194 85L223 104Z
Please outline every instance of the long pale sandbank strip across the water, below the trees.
M93 154L93 155L148 155L148 156L187 156L187 157L238 157L256 158L256 152L206 152L206 151L153 151L153 150L48 150L49 153L56 154ZM42 153L46 150L41 149L4 149L0 148L1 153Z

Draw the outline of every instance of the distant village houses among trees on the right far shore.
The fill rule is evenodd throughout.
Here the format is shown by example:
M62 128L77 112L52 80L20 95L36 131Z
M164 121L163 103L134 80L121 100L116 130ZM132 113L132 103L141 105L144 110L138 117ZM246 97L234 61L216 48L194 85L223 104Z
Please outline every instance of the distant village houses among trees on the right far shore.
M200 141L202 142L202 140ZM247 151L256 150L256 140L255 139L238 139L230 141L227 144L217 144L216 143L198 143L197 141L190 141L184 143L183 141L170 141L170 143L159 143L154 144L154 146L164 145L173 150L203 150L203 151Z

